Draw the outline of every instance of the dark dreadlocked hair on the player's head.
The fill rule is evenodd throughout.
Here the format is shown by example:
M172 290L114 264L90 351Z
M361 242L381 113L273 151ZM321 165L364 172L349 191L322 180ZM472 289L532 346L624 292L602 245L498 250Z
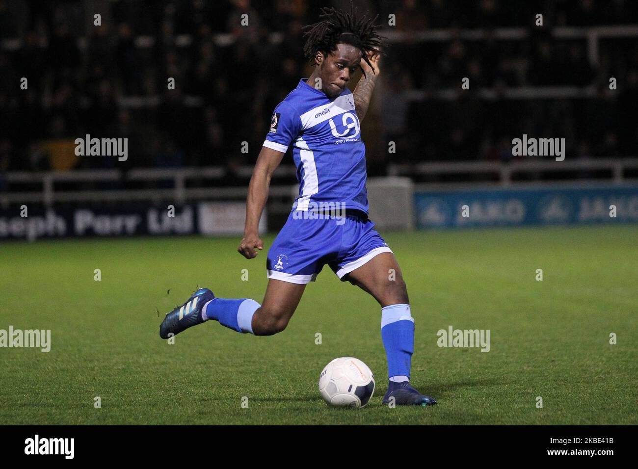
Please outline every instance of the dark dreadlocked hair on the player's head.
M304 33L304 38L307 38L306 45L304 45L304 56L311 65L316 65L317 52L323 52L325 56L329 56L330 52L337 50L338 43L346 43L359 48L362 59L373 71L375 70L368 60L367 54L368 52L383 54L380 48L383 45L382 39L386 38L376 33L381 25L374 24L379 15L369 18L366 14L357 18L357 8L352 2L350 2L350 8L350 13L345 13L336 8L323 7L319 15L321 20L303 27L307 30Z

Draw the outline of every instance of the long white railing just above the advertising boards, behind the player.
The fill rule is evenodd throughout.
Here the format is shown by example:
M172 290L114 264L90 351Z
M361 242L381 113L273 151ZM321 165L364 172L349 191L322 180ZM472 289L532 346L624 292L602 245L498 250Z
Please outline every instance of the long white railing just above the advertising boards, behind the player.
M630 169L638 169L638 158L607 158L579 160L523 160L510 163L496 161L452 161L441 163L405 163L390 164L388 174L390 176L409 176L415 179L420 175L457 175L459 179L451 182L420 183L419 187L425 188L457 188L476 187L489 183L493 186L510 187L512 185L525 184L556 184L567 183L612 183L624 184L637 183L638 177L627 177L625 172ZM609 172L607 178L597 179L552 179L551 181L519 182L514 179L518 174L534 174L537 172L551 172L560 175L561 172L596 171ZM253 168L244 166L239 168L237 174L246 179L246 184L241 187L224 187L225 168L158 168L158 169L133 169L128 171L108 170L73 170L67 172L10 172L0 175L0 179L19 186L20 184L40 184L41 189L36 191L6 191L0 192L0 204L15 204L27 202L41 202L50 206L57 202L113 202L135 200L170 200L177 204L187 200L228 200L243 199L248 191L248 179ZM296 168L284 165L277 168L274 177L294 177ZM485 179L475 182L458 182L463 180L462 175L483 175ZM186 187L187 181L209 179L212 186L200 184L199 187ZM104 190L56 190L56 182L122 182L122 181L172 181L172 188L149 189L104 189ZM197 184L191 184L197 185ZM270 189L271 198L279 198L280 203L287 204L290 200L294 184L273 184Z

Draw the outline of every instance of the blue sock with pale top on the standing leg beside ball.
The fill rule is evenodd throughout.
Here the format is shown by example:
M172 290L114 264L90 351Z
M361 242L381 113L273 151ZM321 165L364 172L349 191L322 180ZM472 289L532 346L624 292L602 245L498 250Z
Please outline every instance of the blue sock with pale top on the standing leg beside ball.
M414 352L414 319L409 304L392 304L381 308L381 337L388 358L388 377L410 378Z

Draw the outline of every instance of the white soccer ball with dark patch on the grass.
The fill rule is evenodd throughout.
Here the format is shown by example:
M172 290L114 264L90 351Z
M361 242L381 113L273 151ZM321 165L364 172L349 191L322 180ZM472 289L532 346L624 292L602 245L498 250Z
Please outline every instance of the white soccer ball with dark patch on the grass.
M360 360L336 358L323 368L319 392L329 405L363 407L375 392L375 375Z

